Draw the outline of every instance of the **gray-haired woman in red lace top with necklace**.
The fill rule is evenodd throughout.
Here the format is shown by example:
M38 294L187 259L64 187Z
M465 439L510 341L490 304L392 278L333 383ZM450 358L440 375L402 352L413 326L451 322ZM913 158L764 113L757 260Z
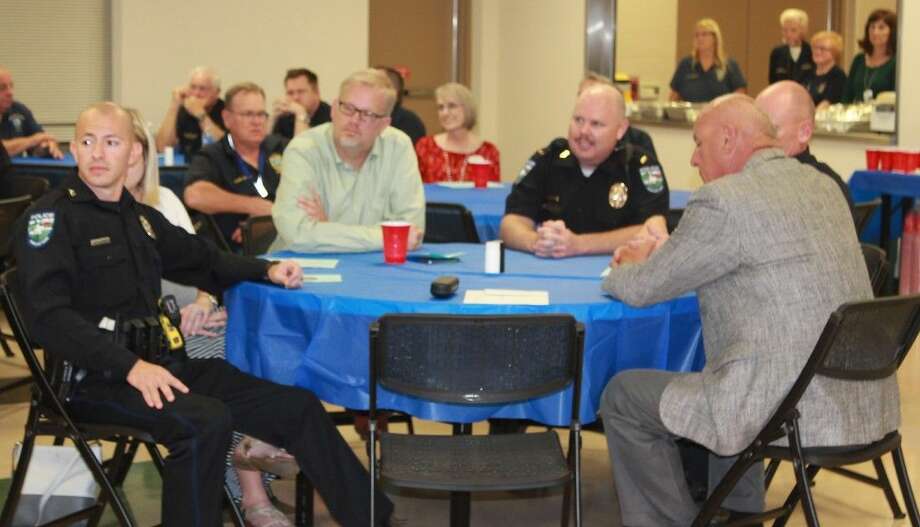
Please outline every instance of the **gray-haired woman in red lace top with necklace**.
M492 165L490 181L501 179L498 148L483 141L474 132L476 101L469 88L449 82L435 90L438 120L443 132L427 135L415 144L422 181L472 181L468 169L472 156L480 156Z

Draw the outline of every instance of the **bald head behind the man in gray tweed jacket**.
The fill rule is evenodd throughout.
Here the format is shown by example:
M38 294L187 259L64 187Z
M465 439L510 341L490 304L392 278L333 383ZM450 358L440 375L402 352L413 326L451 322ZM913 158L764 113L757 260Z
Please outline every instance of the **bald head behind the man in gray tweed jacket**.
M770 118L786 155L795 156L808 148L815 130L815 103L802 85L793 81L771 84L754 104Z

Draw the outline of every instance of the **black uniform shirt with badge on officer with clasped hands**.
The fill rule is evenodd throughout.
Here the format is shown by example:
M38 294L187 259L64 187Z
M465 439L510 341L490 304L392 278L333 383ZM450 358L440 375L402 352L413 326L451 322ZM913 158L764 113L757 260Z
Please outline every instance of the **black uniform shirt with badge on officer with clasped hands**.
M563 220L572 232L583 234L638 225L667 213L668 207L668 184L651 154L628 144L585 177L568 142L558 138L524 165L505 201L505 214L537 224Z

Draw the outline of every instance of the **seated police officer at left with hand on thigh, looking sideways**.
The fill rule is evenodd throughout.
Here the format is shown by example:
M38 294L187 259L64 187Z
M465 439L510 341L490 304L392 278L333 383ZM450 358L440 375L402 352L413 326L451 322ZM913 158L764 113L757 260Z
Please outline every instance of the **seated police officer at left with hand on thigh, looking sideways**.
M32 336L76 369L66 398L74 415L146 430L166 446L163 525L221 525L232 430L287 449L336 521L367 525L368 474L316 396L181 349L141 353L138 339L119 337L156 316L161 277L219 293L241 280L299 287L300 268L220 252L136 202L124 181L141 145L116 104L80 115L71 151L78 175L23 215L15 254ZM392 505L378 502L388 518Z

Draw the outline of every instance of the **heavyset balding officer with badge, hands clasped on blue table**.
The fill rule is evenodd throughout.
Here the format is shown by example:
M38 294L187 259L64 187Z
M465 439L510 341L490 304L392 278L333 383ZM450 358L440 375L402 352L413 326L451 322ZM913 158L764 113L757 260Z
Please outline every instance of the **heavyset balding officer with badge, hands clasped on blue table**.
M625 143L629 128L616 88L594 84L578 96L568 140L527 161L505 202L501 239L546 258L610 254L651 217L664 225L668 184L654 153Z

